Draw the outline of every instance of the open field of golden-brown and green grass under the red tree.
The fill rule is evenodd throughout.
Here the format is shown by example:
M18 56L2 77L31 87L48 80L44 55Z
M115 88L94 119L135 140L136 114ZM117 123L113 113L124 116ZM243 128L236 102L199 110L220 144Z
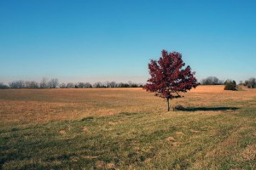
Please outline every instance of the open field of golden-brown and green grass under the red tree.
M0 90L0 169L255 169L256 89Z

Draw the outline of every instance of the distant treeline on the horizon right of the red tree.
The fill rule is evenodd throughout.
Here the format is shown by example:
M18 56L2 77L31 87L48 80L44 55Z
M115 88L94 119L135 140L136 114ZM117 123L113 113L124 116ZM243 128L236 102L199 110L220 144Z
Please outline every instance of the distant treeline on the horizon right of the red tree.
M219 80L217 77L207 77L201 80L202 85L226 85L227 83L232 82L236 85L235 80ZM256 88L256 78L252 77L246 80L245 82L240 81L239 85L247 86L247 88Z

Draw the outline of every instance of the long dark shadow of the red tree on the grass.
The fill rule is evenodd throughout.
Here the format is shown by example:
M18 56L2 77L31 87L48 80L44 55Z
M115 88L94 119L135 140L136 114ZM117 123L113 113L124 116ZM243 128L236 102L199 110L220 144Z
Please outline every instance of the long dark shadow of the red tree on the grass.
M187 107L176 108L176 111L236 111L238 107Z

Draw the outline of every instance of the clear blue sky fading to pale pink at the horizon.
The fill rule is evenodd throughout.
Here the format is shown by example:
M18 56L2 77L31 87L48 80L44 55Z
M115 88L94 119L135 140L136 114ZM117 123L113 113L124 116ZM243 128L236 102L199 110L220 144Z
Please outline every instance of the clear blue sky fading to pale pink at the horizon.
M162 49L199 80L256 77L256 1L0 0L0 82L146 82Z

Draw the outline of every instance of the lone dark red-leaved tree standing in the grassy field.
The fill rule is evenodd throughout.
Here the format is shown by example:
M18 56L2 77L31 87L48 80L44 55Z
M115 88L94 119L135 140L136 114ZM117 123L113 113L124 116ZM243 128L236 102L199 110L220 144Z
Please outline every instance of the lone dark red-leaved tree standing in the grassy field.
M150 78L144 86L148 92L154 92L156 96L167 99L167 110L170 111L170 99L181 98L179 92L187 92L196 88L199 83L191 72L190 66L183 68L185 63L182 54L168 53L162 50L159 60L151 59L148 63Z

